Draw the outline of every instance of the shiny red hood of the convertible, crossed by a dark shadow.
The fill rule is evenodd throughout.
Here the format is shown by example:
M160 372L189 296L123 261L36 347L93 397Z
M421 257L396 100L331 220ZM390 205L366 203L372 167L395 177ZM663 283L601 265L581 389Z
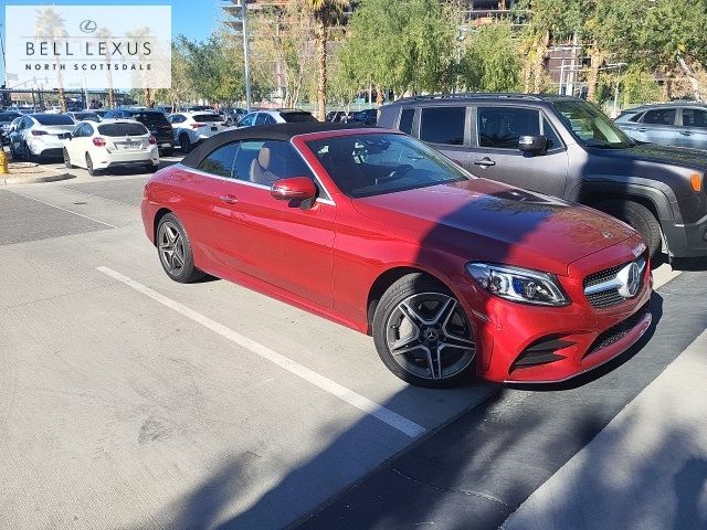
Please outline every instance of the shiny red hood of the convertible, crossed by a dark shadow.
M590 208L486 179L355 199L356 210L421 246L567 274L577 259L634 236Z

